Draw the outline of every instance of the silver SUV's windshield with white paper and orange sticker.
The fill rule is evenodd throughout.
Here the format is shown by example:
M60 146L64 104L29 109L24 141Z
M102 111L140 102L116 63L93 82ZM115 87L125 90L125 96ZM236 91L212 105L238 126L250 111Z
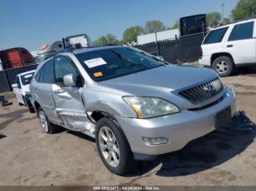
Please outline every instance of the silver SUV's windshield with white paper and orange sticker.
M103 81L139 71L165 66L167 63L130 47L115 47L77 55L94 81Z

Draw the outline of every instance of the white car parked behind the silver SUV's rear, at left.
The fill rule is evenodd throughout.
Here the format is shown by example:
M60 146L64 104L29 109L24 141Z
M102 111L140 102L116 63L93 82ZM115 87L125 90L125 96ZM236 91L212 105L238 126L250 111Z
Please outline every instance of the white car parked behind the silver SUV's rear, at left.
M15 77L15 83L12 84L13 92L15 93L18 103L20 106L27 106L29 112L34 112L29 90L30 81L34 75L34 71L35 70L31 70L18 74Z

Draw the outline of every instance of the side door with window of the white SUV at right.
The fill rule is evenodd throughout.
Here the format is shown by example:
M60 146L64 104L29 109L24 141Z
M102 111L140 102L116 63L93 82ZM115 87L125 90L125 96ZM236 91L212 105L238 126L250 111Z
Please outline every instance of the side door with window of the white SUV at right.
M229 52L235 63L256 63L255 21L233 26L224 43L223 52Z

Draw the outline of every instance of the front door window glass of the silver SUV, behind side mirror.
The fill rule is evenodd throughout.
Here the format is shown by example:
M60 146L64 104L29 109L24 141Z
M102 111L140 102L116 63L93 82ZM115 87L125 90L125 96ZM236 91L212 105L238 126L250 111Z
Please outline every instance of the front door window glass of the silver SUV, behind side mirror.
M73 77L80 81L80 74L78 72L78 69L75 68L75 66L69 61L67 58L61 56L55 58L54 62L55 67L55 77L56 77L56 83L59 85L64 85L64 76L67 74L73 74Z

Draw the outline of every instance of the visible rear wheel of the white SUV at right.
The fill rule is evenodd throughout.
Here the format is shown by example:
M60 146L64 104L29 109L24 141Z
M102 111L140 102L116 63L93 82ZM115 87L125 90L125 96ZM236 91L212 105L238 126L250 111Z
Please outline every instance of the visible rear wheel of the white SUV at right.
M217 71L220 77L228 77L233 73L235 65L231 58L220 56L214 60L212 68Z

